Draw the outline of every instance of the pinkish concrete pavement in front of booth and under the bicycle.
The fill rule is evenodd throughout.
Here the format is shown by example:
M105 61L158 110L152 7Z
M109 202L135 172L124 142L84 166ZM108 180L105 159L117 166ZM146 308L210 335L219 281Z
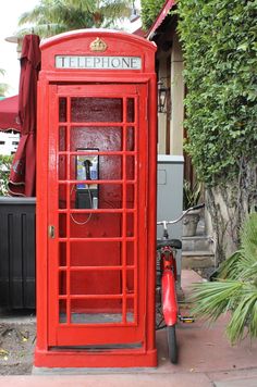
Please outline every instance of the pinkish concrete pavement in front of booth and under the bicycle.
M189 285L201 278L194 271L183 271L182 288L185 295ZM246 338L231 347L224 335L228 316L210 327L203 321L179 324L179 364L173 365L167 355L166 330L157 332L159 364L154 370L75 370L72 374L61 370L54 374L0 376L0 386L8 387L256 387L257 342Z

